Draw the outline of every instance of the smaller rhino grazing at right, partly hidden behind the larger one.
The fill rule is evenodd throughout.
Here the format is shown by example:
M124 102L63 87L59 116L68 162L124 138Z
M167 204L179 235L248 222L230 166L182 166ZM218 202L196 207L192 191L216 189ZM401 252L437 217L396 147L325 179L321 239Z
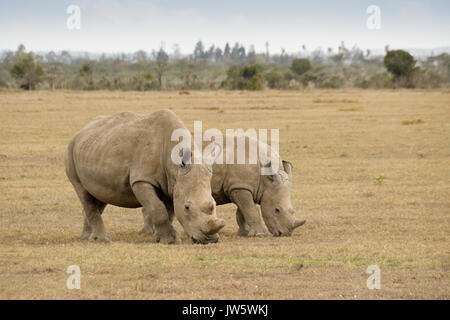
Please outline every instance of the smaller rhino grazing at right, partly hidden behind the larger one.
M234 152L237 155L237 139L233 148L227 144L223 154ZM227 139L228 140L228 139ZM262 218L267 229L274 236L290 236L292 231L303 225L306 221L295 217L295 210L291 204L291 184L293 165L284 160L278 161L278 170L268 175L261 175L261 168L274 167L266 159L262 161L259 154L256 156L256 164L249 164L250 141L257 141L245 137L245 164L217 164L213 165L213 177L211 180L212 195L217 205L234 203L237 205L236 221L239 226L238 235L248 237L266 236L267 232L261 221ZM206 148L210 142L204 142ZM272 151L267 146L267 152ZM223 159L226 159L225 157ZM256 205L260 205L261 215ZM151 219L144 213L144 228L141 232L152 232Z

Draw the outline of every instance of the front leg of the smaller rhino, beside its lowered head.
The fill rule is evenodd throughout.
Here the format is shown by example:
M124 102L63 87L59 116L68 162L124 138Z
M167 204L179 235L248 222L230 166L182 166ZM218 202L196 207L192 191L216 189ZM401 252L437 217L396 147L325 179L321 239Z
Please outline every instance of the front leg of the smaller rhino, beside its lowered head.
M238 207L236 212L236 220L239 225L238 235L248 237L267 236L267 231L262 224L261 216L253 201L251 192L248 190L234 190L231 193L231 200Z

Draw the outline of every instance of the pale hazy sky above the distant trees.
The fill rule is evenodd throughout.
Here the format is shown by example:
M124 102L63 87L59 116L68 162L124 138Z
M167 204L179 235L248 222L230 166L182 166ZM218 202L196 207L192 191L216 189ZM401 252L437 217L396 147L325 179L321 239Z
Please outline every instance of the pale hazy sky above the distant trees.
M70 4L81 9L81 29L68 30ZM369 30L366 9L381 9L381 29ZM0 49L151 51L163 42L184 53L236 41L263 51L437 48L450 46L448 0L1 0Z

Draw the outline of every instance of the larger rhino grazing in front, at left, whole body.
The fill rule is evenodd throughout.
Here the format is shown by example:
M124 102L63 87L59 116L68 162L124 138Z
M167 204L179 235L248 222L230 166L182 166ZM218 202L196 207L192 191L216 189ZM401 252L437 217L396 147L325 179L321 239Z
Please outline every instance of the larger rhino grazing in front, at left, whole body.
M143 207L157 242L178 242L173 214L192 242L218 241L225 221L216 217L211 168L188 164L193 163L190 150L184 150L179 164L172 161L176 129L187 130L172 111L162 110L101 116L75 134L65 166L83 206L82 239L109 240L101 214L112 204Z

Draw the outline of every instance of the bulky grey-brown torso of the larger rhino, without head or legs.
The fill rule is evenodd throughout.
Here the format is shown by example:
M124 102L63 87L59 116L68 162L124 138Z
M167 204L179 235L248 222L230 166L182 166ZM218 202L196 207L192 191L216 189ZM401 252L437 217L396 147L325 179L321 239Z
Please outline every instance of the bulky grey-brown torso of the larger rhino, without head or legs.
M78 179L97 199L122 207L139 207L131 186L146 181L167 192L163 154L173 127L182 126L171 111L151 115L122 112L94 119L73 138L72 157ZM170 172L169 172L170 173Z

